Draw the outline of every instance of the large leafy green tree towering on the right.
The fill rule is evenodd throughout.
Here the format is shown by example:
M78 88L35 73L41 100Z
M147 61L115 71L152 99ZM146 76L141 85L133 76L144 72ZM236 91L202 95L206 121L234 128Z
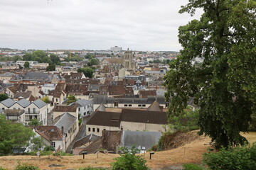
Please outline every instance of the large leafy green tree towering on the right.
M178 29L183 50L165 77L169 118L182 113L188 97L201 108L200 134L215 147L247 142L256 107L255 0L189 0L180 13L202 8L199 20ZM202 64L191 64L196 57Z

